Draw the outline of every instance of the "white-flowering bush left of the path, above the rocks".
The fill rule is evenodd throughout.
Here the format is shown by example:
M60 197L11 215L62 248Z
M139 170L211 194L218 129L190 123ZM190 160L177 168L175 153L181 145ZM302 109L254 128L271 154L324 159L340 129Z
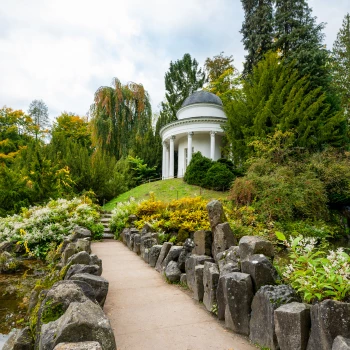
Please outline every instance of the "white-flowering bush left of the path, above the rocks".
M29 255L43 258L51 242L62 241L77 225L94 229L93 234L100 231L99 218L97 206L89 198L52 200L45 207L31 207L20 215L0 218L0 242L16 242Z

